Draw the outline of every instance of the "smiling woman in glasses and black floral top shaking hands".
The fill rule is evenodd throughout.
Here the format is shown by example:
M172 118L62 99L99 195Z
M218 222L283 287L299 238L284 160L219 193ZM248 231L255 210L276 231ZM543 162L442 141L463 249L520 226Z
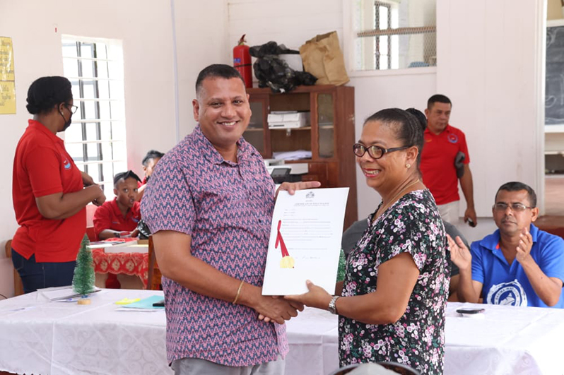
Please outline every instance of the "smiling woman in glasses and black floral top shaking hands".
M336 296L307 282L310 292L286 297L339 314L341 366L386 361L442 374L450 270L445 229L421 182L422 148L423 126L406 111L383 109L365 121L353 149L382 203Z

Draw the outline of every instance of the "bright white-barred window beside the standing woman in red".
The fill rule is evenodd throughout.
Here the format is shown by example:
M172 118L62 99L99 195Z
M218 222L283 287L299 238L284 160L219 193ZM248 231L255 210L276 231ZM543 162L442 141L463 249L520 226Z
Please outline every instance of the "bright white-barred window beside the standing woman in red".
M122 44L64 36L62 46L78 107L65 131L66 150L111 197L114 174L127 170Z

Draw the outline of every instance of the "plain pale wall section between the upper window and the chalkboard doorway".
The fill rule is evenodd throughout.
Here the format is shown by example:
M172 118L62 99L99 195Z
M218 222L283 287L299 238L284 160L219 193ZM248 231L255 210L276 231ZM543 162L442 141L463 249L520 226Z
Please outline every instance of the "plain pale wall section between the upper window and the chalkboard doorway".
M478 216L507 181L544 201L544 18L542 0L437 1L437 92L466 133Z

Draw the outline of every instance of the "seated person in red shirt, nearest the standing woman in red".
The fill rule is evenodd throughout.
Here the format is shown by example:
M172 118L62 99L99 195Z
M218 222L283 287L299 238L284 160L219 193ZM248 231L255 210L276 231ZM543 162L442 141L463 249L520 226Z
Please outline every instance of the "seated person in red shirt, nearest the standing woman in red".
M132 171L114 176L113 201L107 201L94 213L94 232L98 239L112 237L137 237L137 223L141 212L137 198L137 182L141 181Z

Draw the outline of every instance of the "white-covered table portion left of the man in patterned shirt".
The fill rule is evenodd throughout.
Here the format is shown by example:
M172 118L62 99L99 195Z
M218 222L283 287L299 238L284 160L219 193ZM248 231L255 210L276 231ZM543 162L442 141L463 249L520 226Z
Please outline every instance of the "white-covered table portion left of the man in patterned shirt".
M165 312L116 311L114 304L153 295L163 292L102 290L92 294L90 305L47 302L39 292L2 300L0 371L173 374L166 359Z

